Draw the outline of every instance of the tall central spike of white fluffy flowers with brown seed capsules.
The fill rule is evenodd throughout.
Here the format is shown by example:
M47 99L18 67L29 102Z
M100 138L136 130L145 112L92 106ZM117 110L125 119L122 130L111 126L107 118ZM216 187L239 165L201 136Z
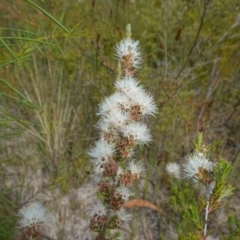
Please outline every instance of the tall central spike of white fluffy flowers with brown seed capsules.
M157 111L153 97L134 78L134 68L141 63L141 53L138 42L130 37L130 26L127 38L116 50L121 77L114 83L115 93L98 107L100 119L96 126L100 139L88 151L101 199L93 207L90 229L101 237L103 229L119 227L131 218L123 207L132 195L129 187L144 170L143 163L134 159L134 151L138 145L151 141L144 121Z

